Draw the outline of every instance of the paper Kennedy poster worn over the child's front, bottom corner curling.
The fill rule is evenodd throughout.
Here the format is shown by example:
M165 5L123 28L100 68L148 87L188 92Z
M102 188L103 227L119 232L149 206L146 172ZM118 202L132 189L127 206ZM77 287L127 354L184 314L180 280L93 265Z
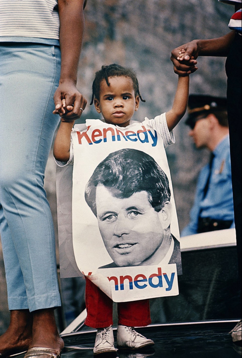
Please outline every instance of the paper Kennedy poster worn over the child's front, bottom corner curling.
M178 295L164 123L164 115L128 127L86 120L72 132L72 163L57 171L61 276L82 272L116 302Z

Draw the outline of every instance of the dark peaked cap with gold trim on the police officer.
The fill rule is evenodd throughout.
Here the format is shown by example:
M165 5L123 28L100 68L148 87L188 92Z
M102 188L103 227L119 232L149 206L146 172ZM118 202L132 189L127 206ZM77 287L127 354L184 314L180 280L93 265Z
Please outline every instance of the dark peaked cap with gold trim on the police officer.
M227 99L222 97L190 95L188 98L188 118L185 124L192 129L200 115L216 114L219 111L227 111Z

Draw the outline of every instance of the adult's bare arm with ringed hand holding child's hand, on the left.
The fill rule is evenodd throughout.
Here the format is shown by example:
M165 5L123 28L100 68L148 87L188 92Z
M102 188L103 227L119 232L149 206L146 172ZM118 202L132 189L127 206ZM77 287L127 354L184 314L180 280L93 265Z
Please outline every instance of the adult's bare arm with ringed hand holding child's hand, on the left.
M82 108L87 101L76 87L78 62L82 48L84 33L84 0L58 0L60 18L60 52L61 67L59 87L54 94L55 111L66 120L77 119L81 116ZM66 100L65 111L62 106L63 98ZM65 113L66 112L66 113Z

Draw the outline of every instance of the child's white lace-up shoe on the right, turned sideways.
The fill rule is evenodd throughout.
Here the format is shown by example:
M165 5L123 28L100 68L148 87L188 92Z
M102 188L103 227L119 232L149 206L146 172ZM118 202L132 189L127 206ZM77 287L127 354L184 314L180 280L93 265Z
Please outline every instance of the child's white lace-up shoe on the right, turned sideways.
M117 346L120 349L140 349L154 344L153 340L137 333L133 327L118 326L117 328Z

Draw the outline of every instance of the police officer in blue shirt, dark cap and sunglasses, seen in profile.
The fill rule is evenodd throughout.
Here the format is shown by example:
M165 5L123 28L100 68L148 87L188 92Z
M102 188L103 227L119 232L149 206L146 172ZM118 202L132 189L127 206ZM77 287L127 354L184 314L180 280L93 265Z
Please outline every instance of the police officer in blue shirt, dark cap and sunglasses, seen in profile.
M181 236L234 227L226 98L190 95L185 123L196 147L211 154L200 171L190 222Z

